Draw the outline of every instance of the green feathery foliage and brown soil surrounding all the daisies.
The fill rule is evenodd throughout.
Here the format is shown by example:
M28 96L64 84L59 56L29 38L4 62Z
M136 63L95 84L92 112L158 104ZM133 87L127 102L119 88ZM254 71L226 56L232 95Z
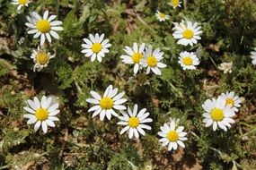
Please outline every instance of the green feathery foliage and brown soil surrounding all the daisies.
M32 2L19 13L10 2L0 1L0 169L129 170L148 163L154 169L182 169L191 153L203 169L256 168L253 0L187 0L175 10L168 0L47 0ZM170 21L157 21L156 9L171 15ZM46 47L56 57L42 72L32 72L31 52L39 39L27 34L25 16L45 10L57 14L64 31ZM181 47L172 37L172 22L181 20L202 27L196 46ZM81 53L83 38L97 32L111 44L102 63ZM133 65L121 62L124 47L134 42L160 47L168 65L162 76L140 71L134 77ZM185 50L200 54L197 70L181 69L178 57ZM223 62L233 62L232 73L217 68ZM140 140L120 135L116 118L102 123L87 112L90 91L102 94L110 84L126 91L128 105L146 107L153 118L152 131ZM228 132L213 132L202 123L201 105L225 91L234 91L243 104ZM26 99L42 95L55 95L61 103L60 122L47 135L32 132L33 125L22 117ZM167 154L157 132L170 117L181 120L189 140L185 149Z

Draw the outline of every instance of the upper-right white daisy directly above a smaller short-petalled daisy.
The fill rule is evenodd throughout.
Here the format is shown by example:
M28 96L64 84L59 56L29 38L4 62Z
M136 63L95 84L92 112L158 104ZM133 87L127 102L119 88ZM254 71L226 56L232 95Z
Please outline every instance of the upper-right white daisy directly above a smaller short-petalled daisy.
M181 21L181 23L174 23L174 26L173 30L175 31L172 36L179 39L178 44L180 45L188 46L190 44L193 46L198 43L198 39L201 39L199 34L202 31L197 22L193 24L191 21Z

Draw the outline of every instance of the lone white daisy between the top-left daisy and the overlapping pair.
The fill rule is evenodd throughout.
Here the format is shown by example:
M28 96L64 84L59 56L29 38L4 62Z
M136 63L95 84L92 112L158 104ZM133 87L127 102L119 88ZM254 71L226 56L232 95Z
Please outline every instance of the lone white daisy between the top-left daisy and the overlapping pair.
M101 63L102 57L105 56L105 53L110 52L108 49L111 47L109 39L103 40L104 34L100 36L98 33L96 33L95 36L93 36L93 34L89 34L89 38L90 39L84 38L85 44L82 44L82 47L84 48L82 53L87 57L91 57L92 62L97 57L97 60Z

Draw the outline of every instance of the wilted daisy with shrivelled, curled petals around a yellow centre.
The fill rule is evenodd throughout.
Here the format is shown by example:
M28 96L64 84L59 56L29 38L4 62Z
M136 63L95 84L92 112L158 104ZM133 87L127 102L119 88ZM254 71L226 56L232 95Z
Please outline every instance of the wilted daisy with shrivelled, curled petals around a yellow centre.
M35 72L37 70L40 72L43 68L48 66L49 59L53 57L55 57L55 55L51 55L50 53L41 50L40 47L38 47L38 50L33 50L33 53L31 54L31 59L34 61L33 71Z

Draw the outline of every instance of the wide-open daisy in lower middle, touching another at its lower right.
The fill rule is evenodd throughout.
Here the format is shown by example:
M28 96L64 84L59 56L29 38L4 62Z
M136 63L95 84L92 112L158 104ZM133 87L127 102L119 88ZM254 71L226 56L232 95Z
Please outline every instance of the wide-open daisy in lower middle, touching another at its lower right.
M127 99L123 98L125 92L121 92L118 94L119 89L113 89L112 85L110 85L104 92L103 97L101 97L97 92L91 91L91 95L93 98L87 98L86 101L88 103L92 103L95 106L91 107L88 112L93 112L93 117L100 114L100 120L103 121L105 115L110 120L111 115L119 116L114 109L116 110L124 110L126 106L123 106Z

